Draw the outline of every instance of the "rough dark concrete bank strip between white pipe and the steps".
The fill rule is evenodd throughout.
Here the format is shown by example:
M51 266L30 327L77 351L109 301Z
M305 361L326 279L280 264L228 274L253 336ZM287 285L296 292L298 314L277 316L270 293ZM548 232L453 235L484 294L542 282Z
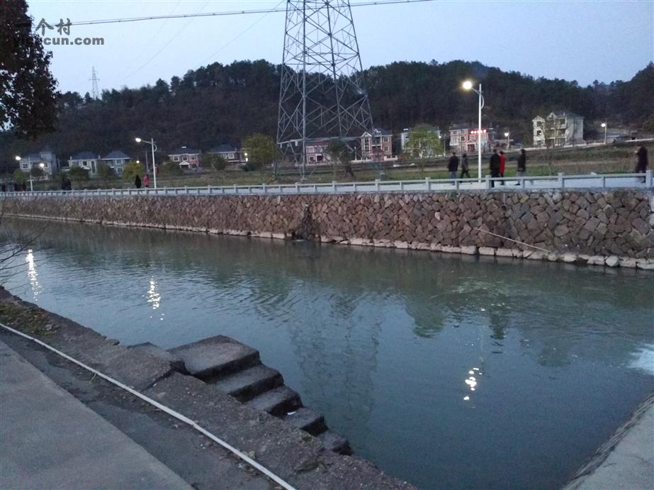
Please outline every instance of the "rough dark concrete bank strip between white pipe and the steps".
M128 349L67 318L21 301L4 289L0 289L0 323L38 338L183 414L297 488L411 488L409 484L383 474L365 460L325 450L317 438L264 411L242 405L232 396L196 377L181 374L171 362ZM2 336L6 341L12 334L4 330ZM23 340L13 338L10 342L20 343ZM40 348L35 345L26 347L28 352L38 350ZM43 355L51 354L44 352ZM60 372L59 369L57 372ZM96 379L86 373L86 379L89 378L91 381ZM84 393L74 383L69 383L67 387L84 399ZM129 397L125 393L116 396L118 399ZM140 401L135 403L142 405ZM146 414L152 411L153 408L149 407ZM200 437L200 434L195 437ZM225 471L229 469L230 464L225 467L225 462L220 462L225 455L216 459L215 464L222 465ZM191 468L196 467L188 458L180 460L191 464ZM237 472L243 465L247 466L245 462L234 460L232 469ZM180 472L178 474L184 477ZM191 474L187 474L185 479L189 484L194 484L195 481L189 481ZM206 484L201 487L215 486L209 483L206 476L203 481ZM225 482L221 485L229 486Z

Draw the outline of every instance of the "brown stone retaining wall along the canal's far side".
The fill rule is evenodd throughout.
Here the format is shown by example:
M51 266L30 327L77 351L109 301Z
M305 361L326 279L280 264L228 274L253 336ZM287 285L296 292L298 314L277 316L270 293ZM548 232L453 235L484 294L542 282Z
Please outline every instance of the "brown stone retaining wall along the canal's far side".
M67 196L0 204L17 216L654 268L653 191Z

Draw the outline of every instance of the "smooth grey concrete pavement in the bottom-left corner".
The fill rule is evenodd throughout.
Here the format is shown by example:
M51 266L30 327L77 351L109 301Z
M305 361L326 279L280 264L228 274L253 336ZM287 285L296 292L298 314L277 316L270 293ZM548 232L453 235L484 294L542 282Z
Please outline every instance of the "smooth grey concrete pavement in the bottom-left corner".
M1 341L0 487L191 488Z

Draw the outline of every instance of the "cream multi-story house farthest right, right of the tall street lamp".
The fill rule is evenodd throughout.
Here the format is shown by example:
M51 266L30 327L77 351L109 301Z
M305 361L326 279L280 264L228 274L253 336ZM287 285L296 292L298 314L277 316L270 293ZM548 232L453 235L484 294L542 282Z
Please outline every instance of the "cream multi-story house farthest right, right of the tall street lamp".
M570 111L551 112L546 117L536 116L534 146L560 147L584 143L584 118Z

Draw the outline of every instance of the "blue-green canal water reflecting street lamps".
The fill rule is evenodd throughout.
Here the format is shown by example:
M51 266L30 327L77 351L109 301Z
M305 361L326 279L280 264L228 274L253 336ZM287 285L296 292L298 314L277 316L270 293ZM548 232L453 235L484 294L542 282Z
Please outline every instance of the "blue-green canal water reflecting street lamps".
M252 345L423 488L556 488L654 389L654 274L4 219L5 286L123 344Z

